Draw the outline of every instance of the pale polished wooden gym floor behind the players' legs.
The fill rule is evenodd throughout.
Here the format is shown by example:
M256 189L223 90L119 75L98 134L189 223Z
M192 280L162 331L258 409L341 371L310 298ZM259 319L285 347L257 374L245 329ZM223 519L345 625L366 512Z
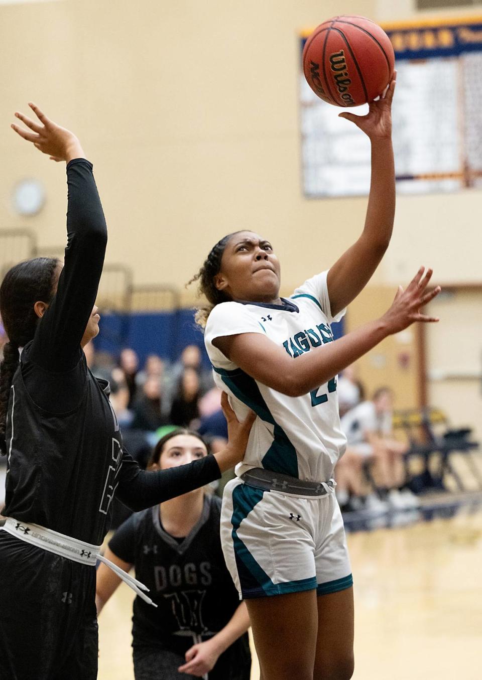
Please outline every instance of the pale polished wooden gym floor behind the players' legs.
M462 505L448 519L354 532L348 541L353 679L480 680L481 505ZM132 599L121 584L101 613L99 680L133 680ZM252 679L259 679L255 659Z

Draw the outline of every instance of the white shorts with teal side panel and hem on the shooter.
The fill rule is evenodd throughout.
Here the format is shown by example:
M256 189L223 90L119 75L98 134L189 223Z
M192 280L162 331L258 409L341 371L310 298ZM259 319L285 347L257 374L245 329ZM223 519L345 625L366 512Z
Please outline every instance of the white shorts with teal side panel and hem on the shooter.
M335 494L293 496L232 479L225 486L221 544L240 599L353 585Z

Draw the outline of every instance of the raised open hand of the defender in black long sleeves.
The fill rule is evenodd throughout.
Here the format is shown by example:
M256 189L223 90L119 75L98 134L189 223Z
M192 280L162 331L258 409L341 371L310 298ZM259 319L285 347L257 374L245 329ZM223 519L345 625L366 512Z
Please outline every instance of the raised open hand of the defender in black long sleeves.
M15 113L16 118L21 120L29 129L25 130L25 128L12 123L12 129L20 137L31 141L39 151L48 154L51 160L65 160L68 163L72 158L85 158L80 141L74 133L47 118L39 107L32 102L29 102L29 107L37 116L39 122L31 120L28 116L17 111Z

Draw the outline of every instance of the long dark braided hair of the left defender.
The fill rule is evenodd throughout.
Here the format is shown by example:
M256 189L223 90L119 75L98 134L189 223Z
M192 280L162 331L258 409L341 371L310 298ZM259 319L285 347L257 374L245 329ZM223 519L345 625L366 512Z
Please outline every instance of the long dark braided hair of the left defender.
M6 453L7 408L19 347L33 340L39 318L33 309L37 301L50 303L54 296L54 275L59 260L35 258L9 269L0 286L0 315L8 342L0 363L0 454Z

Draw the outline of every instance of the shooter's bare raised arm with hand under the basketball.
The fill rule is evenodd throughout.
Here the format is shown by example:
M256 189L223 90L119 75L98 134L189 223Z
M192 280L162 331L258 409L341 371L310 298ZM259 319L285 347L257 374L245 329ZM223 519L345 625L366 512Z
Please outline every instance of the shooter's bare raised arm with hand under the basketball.
M328 272L327 286L332 316L347 307L364 289L387 250L395 216L395 167L391 143L393 80L379 101L372 101L366 116L340 114L354 122L372 145L372 179L364 230L359 239Z

